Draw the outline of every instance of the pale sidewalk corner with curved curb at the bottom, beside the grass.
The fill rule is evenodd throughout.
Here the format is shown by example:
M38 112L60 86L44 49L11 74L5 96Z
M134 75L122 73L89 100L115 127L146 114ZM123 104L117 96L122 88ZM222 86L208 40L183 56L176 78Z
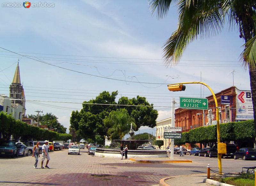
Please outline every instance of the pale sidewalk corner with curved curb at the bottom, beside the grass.
M182 184L189 186L210 186L209 183L204 183L203 180L206 178L206 174L190 174L190 175L182 175L182 176L172 176L168 178L163 178L159 182L159 186L176 186Z

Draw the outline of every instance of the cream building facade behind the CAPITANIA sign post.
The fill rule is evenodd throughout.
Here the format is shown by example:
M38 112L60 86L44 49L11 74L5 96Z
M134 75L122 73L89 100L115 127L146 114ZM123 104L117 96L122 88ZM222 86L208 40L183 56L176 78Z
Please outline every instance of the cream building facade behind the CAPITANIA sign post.
M164 149L170 146L171 139L164 139L164 127L171 127L172 117L156 121L156 140L164 141Z

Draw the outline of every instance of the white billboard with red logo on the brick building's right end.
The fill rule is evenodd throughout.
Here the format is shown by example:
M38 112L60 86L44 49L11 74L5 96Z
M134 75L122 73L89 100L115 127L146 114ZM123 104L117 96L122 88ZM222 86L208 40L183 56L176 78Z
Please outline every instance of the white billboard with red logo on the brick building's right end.
M252 92L236 88L236 120L252 120Z

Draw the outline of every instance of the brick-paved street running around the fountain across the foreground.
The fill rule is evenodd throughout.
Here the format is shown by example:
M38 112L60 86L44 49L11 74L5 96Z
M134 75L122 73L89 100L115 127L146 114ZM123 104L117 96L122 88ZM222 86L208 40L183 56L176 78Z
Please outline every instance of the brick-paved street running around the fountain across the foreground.
M68 155L66 149L49 154L50 169L34 169L35 159L31 155L14 159L1 157L0 185L154 185L164 177L206 173L208 164L218 170L217 158L188 154L182 158L191 159L193 163L135 163L94 157L88 155L86 149L81 149L81 155ZM41 158L38 167L40 165ZM256 161L222 159L222 172L226 173L241 172L242 167L252 166L256 166Z

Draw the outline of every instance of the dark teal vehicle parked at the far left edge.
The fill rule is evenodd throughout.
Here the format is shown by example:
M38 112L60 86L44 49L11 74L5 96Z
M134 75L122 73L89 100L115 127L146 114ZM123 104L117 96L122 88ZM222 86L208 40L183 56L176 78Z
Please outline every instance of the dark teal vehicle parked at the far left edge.
M11 156L12 158L14 158L14 156L18 157L18 149L15 146L14 141L0 141L0 155Z

